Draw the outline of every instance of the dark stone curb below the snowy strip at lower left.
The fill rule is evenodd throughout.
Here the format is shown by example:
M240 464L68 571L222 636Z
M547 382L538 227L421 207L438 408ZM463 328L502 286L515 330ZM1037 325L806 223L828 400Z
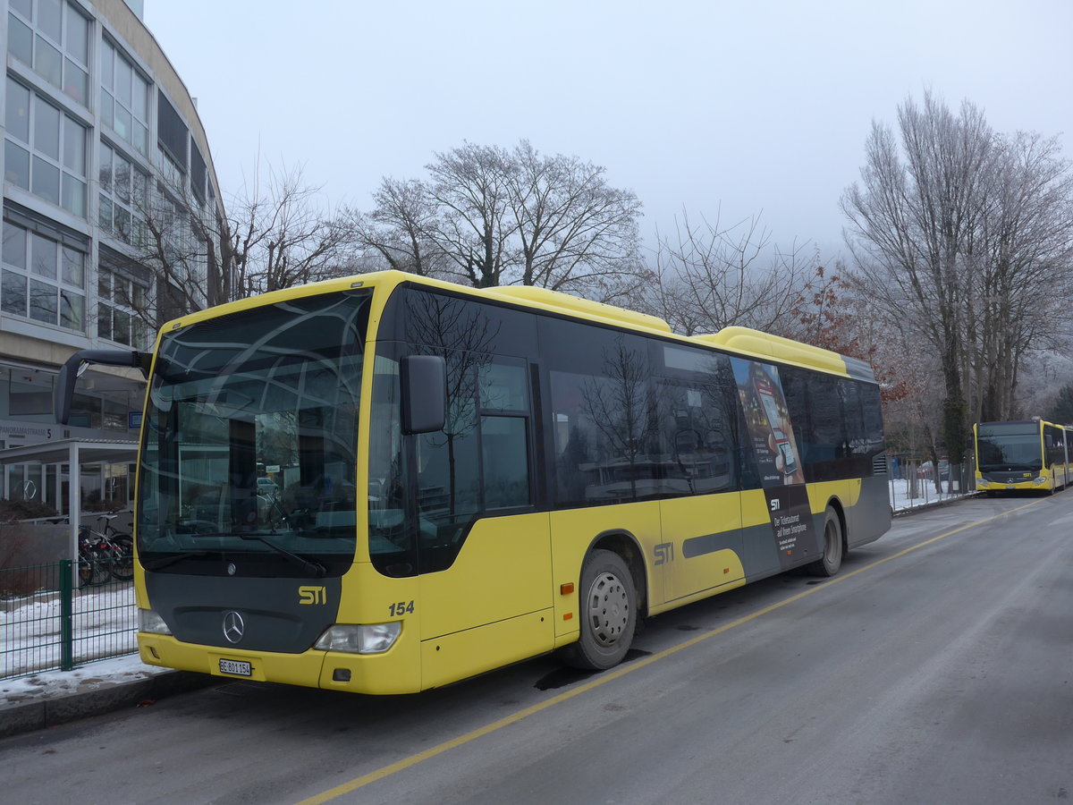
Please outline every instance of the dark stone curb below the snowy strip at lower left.
M134 707L147 699L164 699L219 684L220 679L209 674L171 671L97 690L0 707L0 738Z

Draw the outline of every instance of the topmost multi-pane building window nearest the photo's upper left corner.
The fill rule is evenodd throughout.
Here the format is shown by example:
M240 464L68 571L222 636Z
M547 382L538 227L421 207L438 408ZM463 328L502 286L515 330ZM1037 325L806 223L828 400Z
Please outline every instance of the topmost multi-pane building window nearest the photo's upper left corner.
M62 0L19 0L10 9L8 53L88 106L89 20Z

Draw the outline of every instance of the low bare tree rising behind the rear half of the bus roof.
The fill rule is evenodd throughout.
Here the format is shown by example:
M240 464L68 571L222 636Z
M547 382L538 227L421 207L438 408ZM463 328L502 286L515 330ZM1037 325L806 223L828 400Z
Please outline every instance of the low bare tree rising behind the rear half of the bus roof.
M657 232L651 307L686 335L731 325L792 335L791 313L812 264L803 251L796 244L780 250L758 217L693 224L684 210L674 235Z

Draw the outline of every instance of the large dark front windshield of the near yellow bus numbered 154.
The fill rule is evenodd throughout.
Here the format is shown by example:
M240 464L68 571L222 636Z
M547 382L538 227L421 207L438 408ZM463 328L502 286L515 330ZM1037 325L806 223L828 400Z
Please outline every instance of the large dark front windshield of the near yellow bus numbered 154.
M306 296L163 337L139 465L147 570L308 577L352 565L370 298Z

